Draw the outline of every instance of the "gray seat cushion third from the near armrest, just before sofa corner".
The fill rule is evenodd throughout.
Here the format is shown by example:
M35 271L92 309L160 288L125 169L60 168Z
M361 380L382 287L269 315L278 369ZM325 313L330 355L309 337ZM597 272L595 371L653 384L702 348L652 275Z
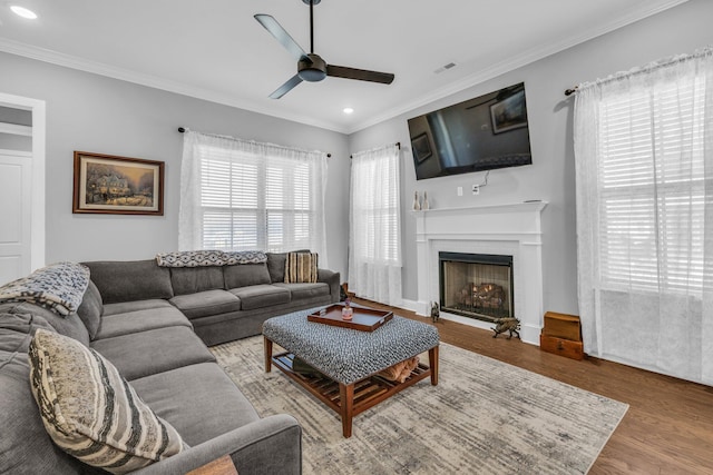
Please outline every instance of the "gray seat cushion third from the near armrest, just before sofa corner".
M114 314L101 318L101 327L95 339L114 338L175 326L193 328L186 316L174 307Z

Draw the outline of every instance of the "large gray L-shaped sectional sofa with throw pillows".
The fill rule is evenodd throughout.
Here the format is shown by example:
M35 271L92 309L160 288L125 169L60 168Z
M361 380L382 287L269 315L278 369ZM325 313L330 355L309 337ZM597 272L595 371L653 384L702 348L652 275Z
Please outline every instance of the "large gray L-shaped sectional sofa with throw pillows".
M260 418L207 346L258 335L276 315L339 300L339 274L284 284L284 254L267 263L195 268L155 260L92 261L76 313L0 304L0 473L102 473L50 439L30 392L28 347L38 328L70 336L116 366L188 448L136 473L183 474L223 455L238 473L300 474L301 427Z

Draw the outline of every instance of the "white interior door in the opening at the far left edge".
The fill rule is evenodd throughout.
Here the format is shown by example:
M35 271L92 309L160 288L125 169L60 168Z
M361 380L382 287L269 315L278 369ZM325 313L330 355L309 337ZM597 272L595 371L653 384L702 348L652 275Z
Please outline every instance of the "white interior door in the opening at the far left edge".
M31 270L32 155L0 150L0 285Z

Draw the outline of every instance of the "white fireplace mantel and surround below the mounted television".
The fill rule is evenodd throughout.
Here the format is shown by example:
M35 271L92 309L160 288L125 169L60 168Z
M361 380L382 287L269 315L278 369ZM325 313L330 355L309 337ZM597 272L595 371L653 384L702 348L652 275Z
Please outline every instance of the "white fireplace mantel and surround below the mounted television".
M428 315L439 299L438 253L512 256L514 313L522 342L539 345L543 320L540 215L546 201L413 211L418 258L416 310ZM441 313L441 318L491 328L494 324Z

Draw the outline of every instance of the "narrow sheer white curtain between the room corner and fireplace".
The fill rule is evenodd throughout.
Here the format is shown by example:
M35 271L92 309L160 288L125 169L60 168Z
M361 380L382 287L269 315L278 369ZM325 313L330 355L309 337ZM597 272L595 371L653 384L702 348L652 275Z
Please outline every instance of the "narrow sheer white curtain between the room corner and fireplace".
M349 290L401 304L399 147L352 155Z

